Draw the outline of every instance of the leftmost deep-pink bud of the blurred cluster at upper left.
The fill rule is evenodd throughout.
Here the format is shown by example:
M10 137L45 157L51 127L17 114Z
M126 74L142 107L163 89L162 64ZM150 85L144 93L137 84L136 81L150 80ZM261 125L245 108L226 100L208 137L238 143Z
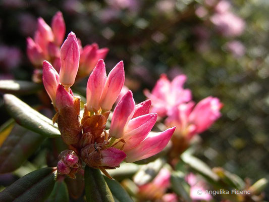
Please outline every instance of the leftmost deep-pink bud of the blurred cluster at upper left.
M37 45L32 38L28 37L26 39L27 42L27 56L31 63L36 66L41 66L44 55L42 54L42 49Z

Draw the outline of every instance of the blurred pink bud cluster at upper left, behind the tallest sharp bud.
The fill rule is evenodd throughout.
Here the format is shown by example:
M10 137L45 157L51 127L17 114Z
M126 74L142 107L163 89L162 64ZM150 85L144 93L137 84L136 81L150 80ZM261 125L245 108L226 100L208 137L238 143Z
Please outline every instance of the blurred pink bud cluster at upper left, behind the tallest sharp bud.
M67 49L60 51L60 48L63 49L61 46L66 34L66 26L62 13L57 12L56 15L53 16L51 26L46 24L41 17L38 18L37 25L34 38L27 38L27 55L31 63L37 68L33 77L35 82L39 82L39 77L42 75L42 72L38 69L42 68L44 60L50 62L57 72L60 72L61 68L77 65L63 64L63 56L60 56L68 51ZM78 63L78 77L76 79L88 76L98 59L104 59L109 52L108 48L99 49L96 43L88 44L83 48L78 39L78 44L80 51L77 57L80 57L80 60ZM67 47L67 45L65 45L65 47Z

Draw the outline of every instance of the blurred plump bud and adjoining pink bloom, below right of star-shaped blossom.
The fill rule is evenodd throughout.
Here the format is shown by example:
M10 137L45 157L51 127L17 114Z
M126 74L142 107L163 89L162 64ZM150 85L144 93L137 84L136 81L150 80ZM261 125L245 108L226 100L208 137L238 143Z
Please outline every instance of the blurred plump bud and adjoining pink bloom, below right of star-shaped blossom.
M190 139L208 129L218 118L223 106L216 97L206 97L195 107L193 102L181 104L174 108L173 114L166 119L166 125L175 125L176 134Z

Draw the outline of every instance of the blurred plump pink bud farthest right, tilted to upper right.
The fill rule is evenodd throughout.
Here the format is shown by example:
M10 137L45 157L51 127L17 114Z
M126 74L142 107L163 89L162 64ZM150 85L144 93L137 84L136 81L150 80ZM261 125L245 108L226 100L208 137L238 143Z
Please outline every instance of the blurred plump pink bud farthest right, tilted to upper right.
M189 122L196 126L197 133L201 133L221 117L222 107L223 104L217 97L206 97L194 107L189 116Z

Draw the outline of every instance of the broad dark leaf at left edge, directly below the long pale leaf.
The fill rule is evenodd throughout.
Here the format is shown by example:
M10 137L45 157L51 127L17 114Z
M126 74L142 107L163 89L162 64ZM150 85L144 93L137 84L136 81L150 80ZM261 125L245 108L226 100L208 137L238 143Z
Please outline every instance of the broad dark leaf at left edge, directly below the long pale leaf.
M19 168L39 147L45 137L16 124L0 147L0 173Z

